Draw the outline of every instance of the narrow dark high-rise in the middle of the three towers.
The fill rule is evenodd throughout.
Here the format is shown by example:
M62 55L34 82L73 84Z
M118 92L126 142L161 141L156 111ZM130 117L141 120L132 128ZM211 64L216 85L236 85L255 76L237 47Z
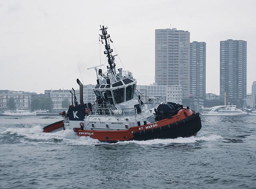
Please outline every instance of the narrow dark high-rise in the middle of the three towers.
M206 94L206 43L190 43L190 95L202 97Z

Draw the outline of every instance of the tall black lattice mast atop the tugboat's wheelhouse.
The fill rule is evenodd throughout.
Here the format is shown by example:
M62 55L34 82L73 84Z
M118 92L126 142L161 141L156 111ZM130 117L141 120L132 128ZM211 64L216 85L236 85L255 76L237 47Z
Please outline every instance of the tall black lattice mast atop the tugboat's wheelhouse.
M113 75L116 75L116 70L114 69L116 65L114 64L114 56L112 56L113 49L110 48L110 44L107 40L108 38L110 38L110 35L107 33L107 29L108 28L105 28L104 26L100 27L100 30L102 31L102 35L100 35L100 38L102 40L105 40L105 49L106 49L106 51L104 51L104 54L107 55L108 64L110 66L110 67L107 66L107 68L110 68ZM110 41L111 41L111 39L110 39Z

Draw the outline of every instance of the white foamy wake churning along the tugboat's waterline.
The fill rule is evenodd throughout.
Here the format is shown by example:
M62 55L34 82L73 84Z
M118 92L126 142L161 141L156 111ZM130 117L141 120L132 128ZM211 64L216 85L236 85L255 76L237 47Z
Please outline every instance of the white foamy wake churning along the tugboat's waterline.
M202 141L218 141L223 139L219 135L207 134L206 132L200 132L197 136L187 137L187 138L176 138L176 139L153 139L148 141L119 141L117 143L105 143L100 142L97 139L92 139L90 137L78 137L76 133L72 130L57 131L55 133L44 133L42 132L42 127L40 125L35 125L33 127L19 127L19 128L8 128L0 132L1 143L3 140L5 142L10 142L12 138L13 142L26 143L26 144L66 144L66 145L126 145L126 144L138 144L138 145L170 145L170 144L189 144L198 143ZM8 137L11 136L11 137Z

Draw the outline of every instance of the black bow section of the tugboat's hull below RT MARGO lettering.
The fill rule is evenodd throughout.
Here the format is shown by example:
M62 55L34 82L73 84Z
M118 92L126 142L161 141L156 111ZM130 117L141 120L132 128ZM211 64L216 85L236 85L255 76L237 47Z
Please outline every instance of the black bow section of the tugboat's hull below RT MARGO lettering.
M195 135L202 128L199 113L190 115L181 121L164 125L162 127L134 132L131 140L150 139L175 139L178 137L190 137Z

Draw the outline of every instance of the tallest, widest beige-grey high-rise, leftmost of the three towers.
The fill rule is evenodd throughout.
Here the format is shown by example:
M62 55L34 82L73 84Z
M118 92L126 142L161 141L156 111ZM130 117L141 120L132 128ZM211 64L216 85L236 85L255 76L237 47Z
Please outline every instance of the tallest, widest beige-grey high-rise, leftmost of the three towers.
M182 97L190 96L190 32L155 30L155 83L181 85Z

